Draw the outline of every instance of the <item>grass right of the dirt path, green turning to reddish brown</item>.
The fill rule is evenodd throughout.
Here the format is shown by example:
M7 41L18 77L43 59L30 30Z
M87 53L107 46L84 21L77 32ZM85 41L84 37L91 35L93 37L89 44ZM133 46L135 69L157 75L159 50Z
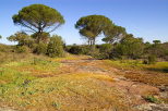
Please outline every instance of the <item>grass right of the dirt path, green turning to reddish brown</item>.
M157 62L156 64L143 64L142 61L124 60L110 61L106 60L105 65L120 70L129 70L124 76L132 81L142 82L151 85L168 85L168 62Z

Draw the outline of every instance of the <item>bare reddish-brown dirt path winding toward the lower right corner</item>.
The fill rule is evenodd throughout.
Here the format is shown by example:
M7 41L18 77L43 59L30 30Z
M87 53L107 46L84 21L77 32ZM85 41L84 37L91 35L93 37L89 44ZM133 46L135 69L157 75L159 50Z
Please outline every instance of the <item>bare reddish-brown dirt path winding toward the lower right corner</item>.
M64 60L62 63L62 74L71 73L92 73L92 74L107 74L115 79L115 83L104 82L106 85L117 88L124 94L125 99L132 108L139 108L143 111L168 111L168 106L164 103L149 103L144 100L146 95L160 95L159 88L140 82L133 82L123 76L123 71L110 67L104 69L101 64L104 61L85 58L80 60ZM65 72L63 71L65 69Z

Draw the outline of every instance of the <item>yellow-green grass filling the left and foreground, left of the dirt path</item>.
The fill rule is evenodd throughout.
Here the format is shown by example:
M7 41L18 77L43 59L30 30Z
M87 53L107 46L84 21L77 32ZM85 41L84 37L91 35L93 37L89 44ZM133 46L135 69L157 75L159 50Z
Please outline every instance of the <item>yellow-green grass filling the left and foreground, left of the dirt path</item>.
M55 59L53 59L55 60ZM130 110L123 95L108 86L108 75L58 75L60 63L47 58L3 63L0 67L0 102L31 111ZM53 76L36 76L52 74Z

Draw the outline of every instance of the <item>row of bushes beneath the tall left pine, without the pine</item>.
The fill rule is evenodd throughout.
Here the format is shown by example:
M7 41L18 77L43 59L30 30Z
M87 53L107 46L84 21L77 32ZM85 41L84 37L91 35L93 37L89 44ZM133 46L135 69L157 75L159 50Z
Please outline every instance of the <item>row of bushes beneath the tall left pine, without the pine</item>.
M61 36L58 35L47 35L48 40L40 40L38 44L36 42L36 38L33 35L27 35L25 33L16 33L8 39L10 41L16 41L17 45L14 48L15 52L33 52L36 54L46 54L49 57L63 57L63 40Z

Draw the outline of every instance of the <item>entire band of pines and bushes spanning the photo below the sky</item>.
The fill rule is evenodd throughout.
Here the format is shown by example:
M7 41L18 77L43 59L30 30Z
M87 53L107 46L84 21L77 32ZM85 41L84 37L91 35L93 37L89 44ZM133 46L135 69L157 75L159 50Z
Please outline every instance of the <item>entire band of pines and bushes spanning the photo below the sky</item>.
M163 59L168 60L168 42L144 42L143 38L128 34L122 26L116 25L104 15L87 15L81 17L74 25L87 45L65 46L58 35L50 35L65 23L56 9L44 4L32 4L23 8L12 16L15 25L24 27L8 37L16 41L16 52L31 51L49 57L63 57L64 50L74 54L88 54L97 59ZM103 45L96 45L96 39L104 35ZM0 36L1 38L1 36Z

